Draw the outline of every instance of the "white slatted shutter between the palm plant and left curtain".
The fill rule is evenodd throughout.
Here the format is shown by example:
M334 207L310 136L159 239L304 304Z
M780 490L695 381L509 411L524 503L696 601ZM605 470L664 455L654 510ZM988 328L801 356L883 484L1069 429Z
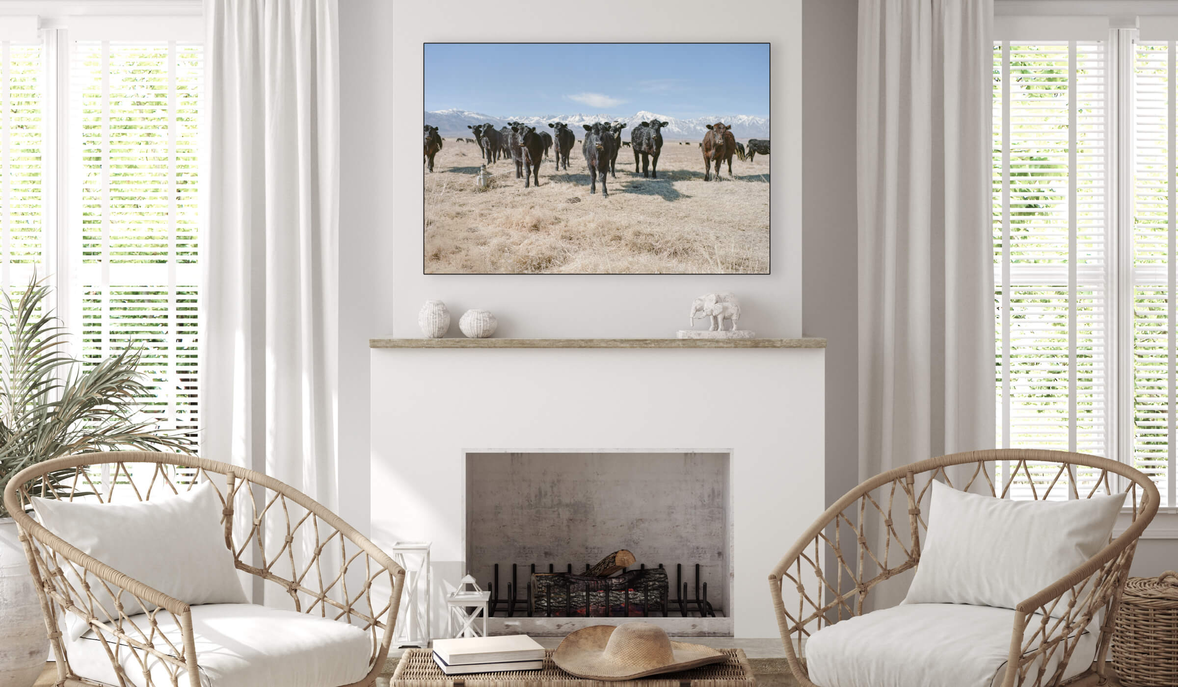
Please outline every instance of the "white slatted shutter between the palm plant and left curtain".
M93 31L71 28L82 36L70 74L75 353L94 363L141 348L145 413L161 428L194 431L203 48L91 40Z

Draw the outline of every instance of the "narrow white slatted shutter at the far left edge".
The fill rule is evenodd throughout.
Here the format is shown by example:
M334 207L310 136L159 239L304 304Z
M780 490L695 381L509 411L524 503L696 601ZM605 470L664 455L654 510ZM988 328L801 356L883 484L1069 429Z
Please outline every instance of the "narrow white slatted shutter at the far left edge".
M47 273L46 65L33 19L29 32L0 20L0 288L9 293Z

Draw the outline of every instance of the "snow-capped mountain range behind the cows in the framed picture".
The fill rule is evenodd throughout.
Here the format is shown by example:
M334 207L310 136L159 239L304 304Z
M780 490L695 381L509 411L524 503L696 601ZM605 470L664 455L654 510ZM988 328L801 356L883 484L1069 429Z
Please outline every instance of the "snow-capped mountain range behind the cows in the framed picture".
M593 124L596 121L624 121L628 128L634 128L644 121L660 120L670 122L664 126L662 134L664 139L679 139L679 140L702 140L703 134L708 133L707 125L716 124L722 121L733 127L733 135L737 139L767 139L769 138L769 120L763 116L752 116L747 114L730 114L730 115L715 115L715 116L696 116L693 119L677 119L674 116L668 116L666 114L655 114L653 112L637 112L630 116L618 116L616 114L560 114L550 116L491 116L489 114L482 114L478 112L469 112L465 109L439 109L437 112L425 113L425 124L430 126L438 127L438 132L443 136L459 136L463 134L469 134L470 129L468 126L475 126L479 124L490 122L495 127L502 127L509 121L522 121L529 126L544 127L548 128L549 122L563 121L569 126L580 132L582 125ZM626 132L622 134L626 136L623 140L629 140Z

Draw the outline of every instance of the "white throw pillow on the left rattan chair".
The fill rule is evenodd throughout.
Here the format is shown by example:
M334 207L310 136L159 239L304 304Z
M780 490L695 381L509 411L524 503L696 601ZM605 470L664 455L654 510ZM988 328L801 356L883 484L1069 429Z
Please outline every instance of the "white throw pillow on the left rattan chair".
M150 501L97 503L33 498L41 525L75 548L120 573L185 603L246 603L245 592L225 547L221 502L213 485L204 482L180 494ZM77 574L65 566L66 581L81 591ZM79 568L80 569L80 568ZM114 598L101 580L86 575L94 599L118 619ZM115 593L118 589L112 586ZM124 613L145 608L124 593ZM152 611L154 606L147 606ZM106 616L94 609L98 620ZM86 626L68 614L67 632L78 638Z

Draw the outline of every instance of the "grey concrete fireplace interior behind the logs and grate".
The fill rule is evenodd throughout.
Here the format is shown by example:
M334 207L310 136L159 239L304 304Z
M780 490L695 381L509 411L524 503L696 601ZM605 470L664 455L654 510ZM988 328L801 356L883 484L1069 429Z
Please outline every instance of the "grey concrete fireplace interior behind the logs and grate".
M567 634L610 615L621 622L628 609L675 634L730 635L729 463L728 453L466 453L465 560L499 600L489 629ZM636 583L621 585L633 588L615 592L611 609L605 591L552 602L542 600L544 580L529 589L532 566L542 576L581 574L618 549L636 556L629 571ZM644 585L662 573L641 567L660 563L666 600L655 594L648 609Z

